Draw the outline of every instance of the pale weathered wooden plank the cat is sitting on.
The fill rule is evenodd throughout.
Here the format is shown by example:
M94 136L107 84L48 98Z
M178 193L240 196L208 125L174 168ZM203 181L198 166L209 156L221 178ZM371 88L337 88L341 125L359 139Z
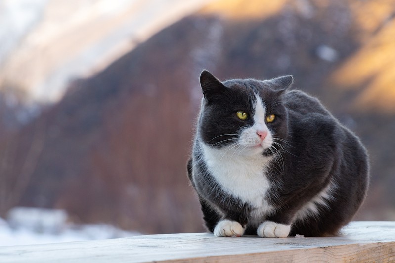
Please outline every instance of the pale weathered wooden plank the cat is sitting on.
M351 222L342 236L214 237L145 235L98 241L0 247L0 262L395 262L395 222Z

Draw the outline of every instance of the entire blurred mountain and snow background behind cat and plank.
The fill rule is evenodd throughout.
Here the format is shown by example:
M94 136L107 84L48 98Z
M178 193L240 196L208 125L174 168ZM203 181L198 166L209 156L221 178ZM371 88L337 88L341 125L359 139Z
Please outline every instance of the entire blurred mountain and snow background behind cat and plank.
M369 151L355 220L395 220L395 0L0 0L0 245L204 231L202 69L294 75Z

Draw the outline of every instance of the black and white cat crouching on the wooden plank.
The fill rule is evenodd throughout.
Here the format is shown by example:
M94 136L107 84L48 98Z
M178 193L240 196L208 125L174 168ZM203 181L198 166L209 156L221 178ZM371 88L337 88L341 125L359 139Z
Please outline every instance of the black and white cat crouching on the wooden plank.
M221 82L201 73L187 170L215 236L334 236L362 204L364 146L292 83L292 76Z

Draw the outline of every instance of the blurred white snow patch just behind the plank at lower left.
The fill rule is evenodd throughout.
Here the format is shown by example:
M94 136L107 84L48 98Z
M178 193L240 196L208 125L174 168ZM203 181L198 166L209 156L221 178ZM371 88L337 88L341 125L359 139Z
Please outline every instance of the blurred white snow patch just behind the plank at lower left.
M0 218L0 246L101 240L140 235L108 224L76 225L64 210L17 207Z

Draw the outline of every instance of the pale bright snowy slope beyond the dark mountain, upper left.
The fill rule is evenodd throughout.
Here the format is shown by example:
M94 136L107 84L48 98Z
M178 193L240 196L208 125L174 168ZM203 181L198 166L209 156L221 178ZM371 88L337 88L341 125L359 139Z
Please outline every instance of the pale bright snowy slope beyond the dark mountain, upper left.
M4 125L28 122L70 81L101 71L207 1L0 0Z

